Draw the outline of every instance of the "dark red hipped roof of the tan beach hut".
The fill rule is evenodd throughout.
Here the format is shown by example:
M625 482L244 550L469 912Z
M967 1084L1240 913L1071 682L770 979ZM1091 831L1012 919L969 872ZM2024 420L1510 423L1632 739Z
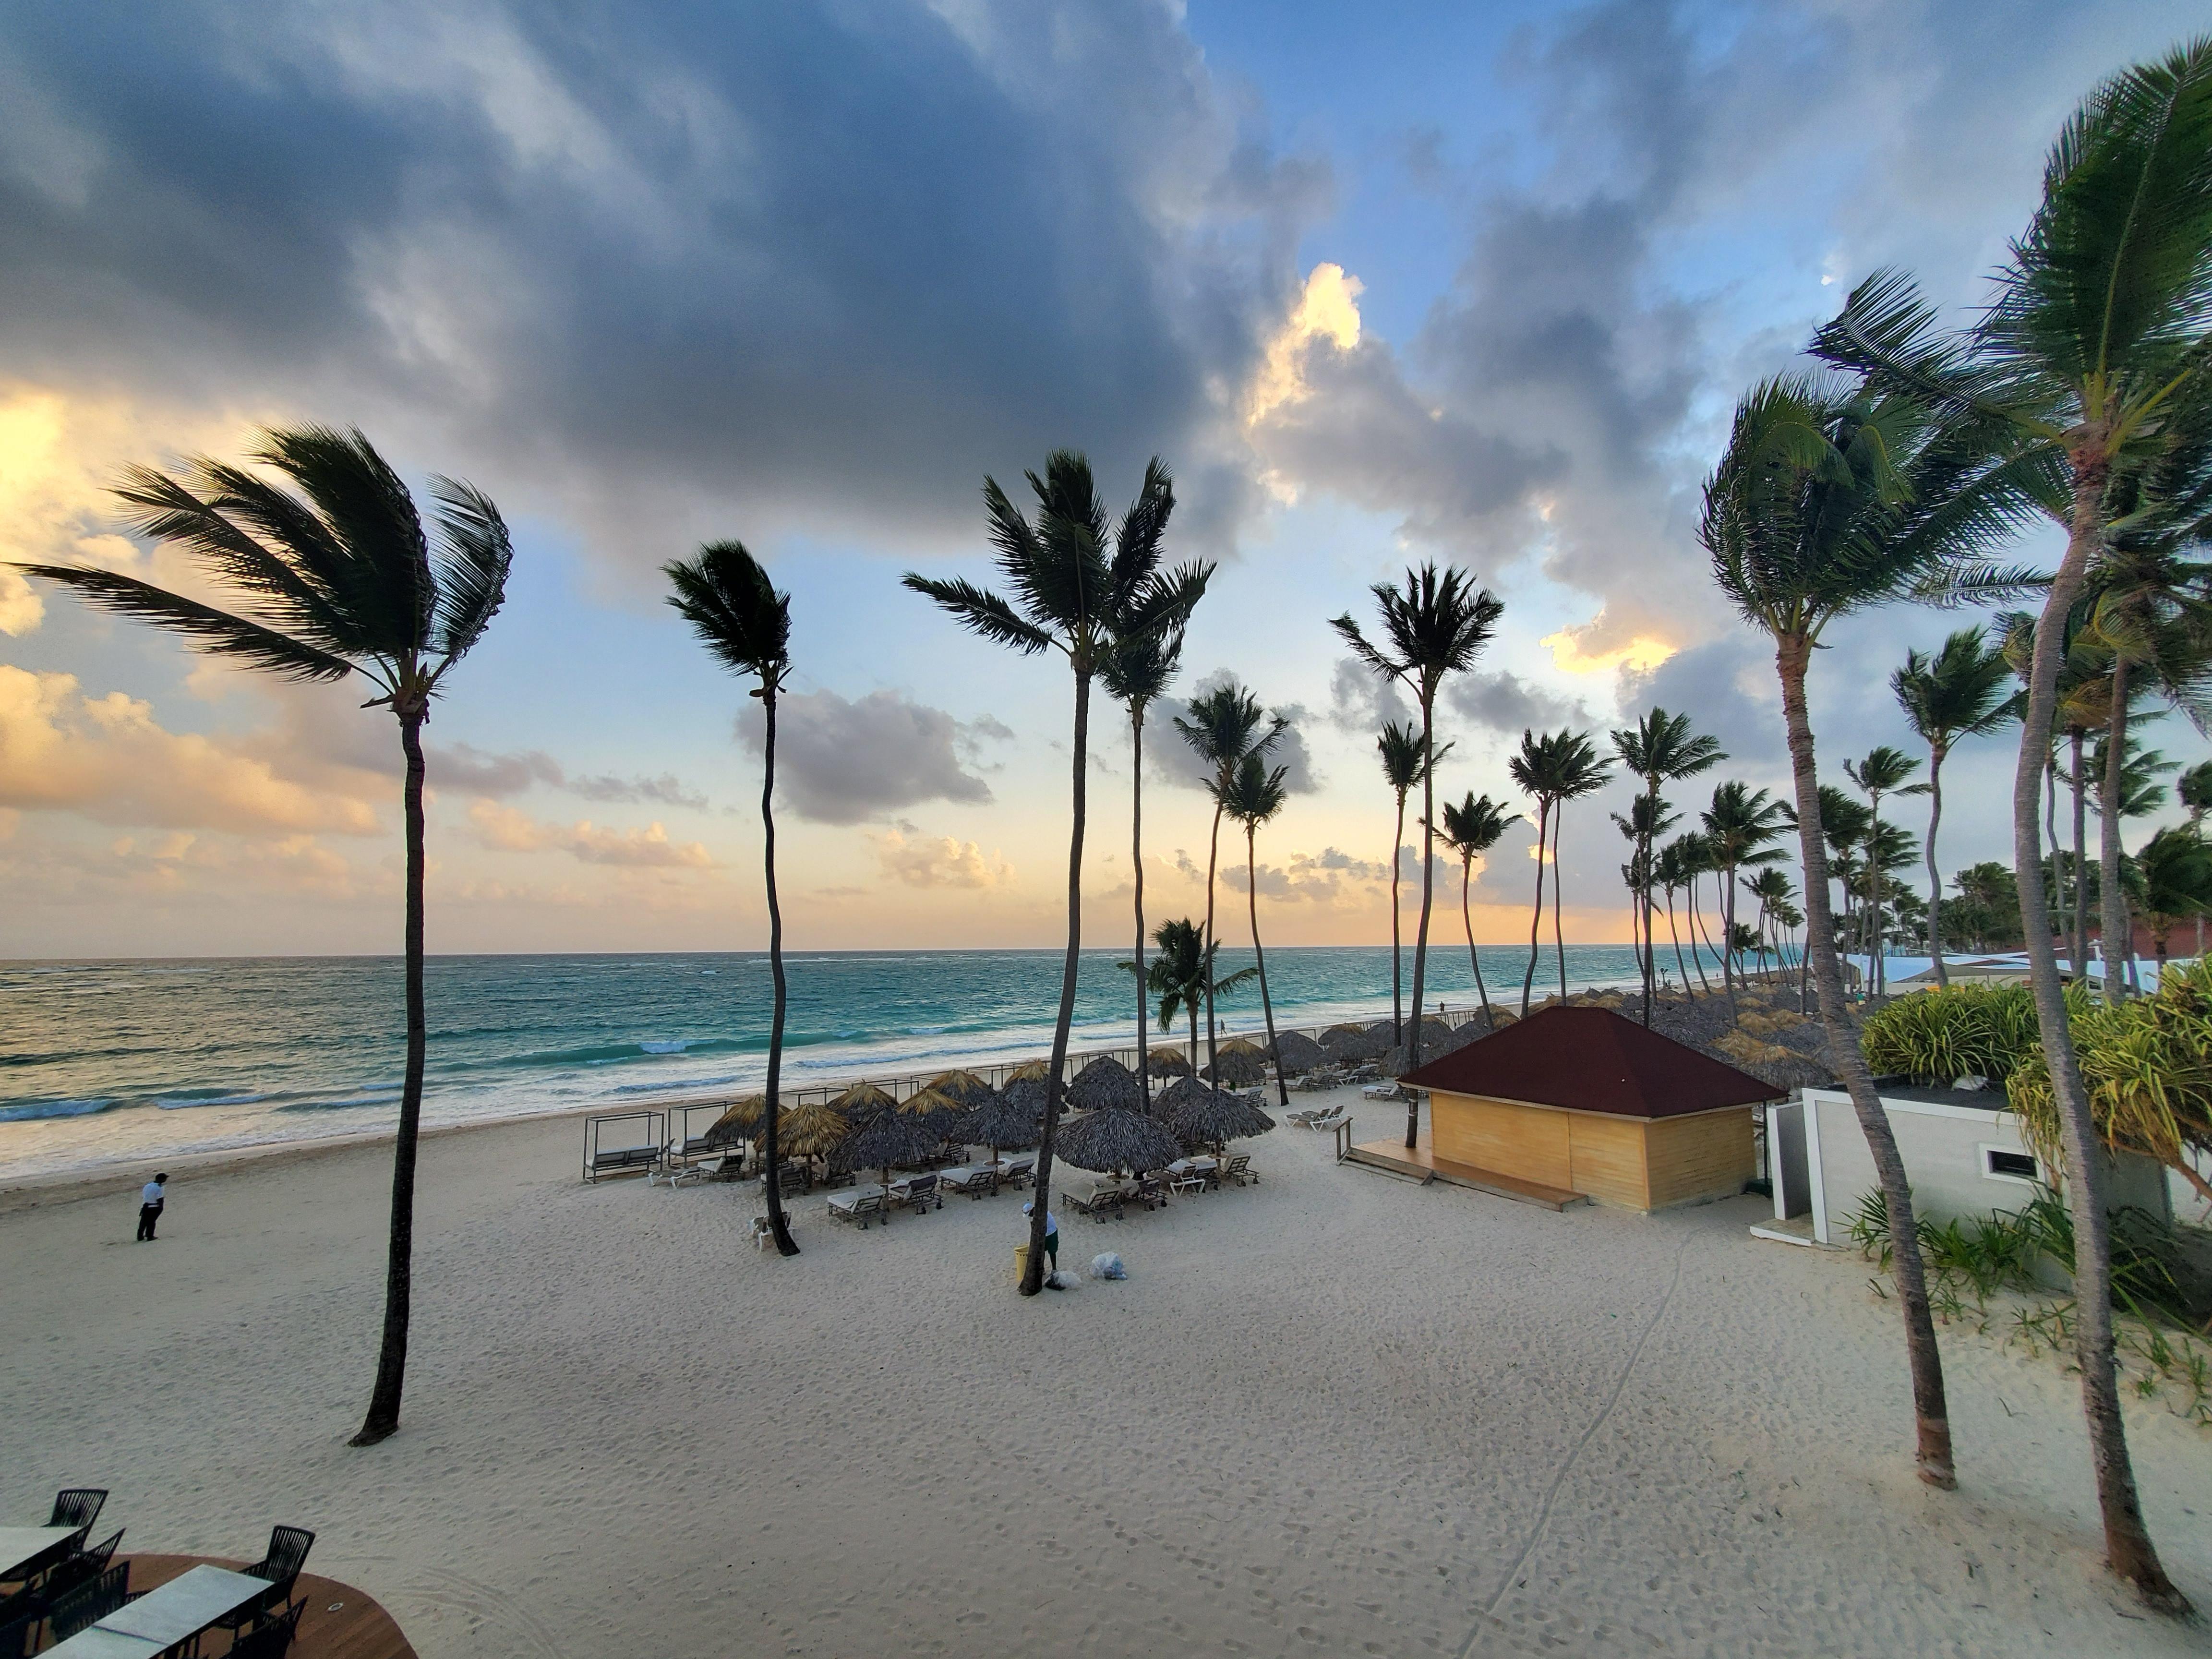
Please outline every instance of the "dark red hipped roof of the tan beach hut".
M1398 1082L1617 1117L1683 1117L1790 1091L1646 1031L1613 1009L1544 1009Z

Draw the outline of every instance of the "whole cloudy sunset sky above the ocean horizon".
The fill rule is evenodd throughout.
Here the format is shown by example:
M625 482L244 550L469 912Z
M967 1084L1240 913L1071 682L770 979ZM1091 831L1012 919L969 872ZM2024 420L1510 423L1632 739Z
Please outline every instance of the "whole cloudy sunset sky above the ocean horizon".
M1177 697L1292 723L1270 945L1389 936L1405 699L1329 619L1436 560L1504 602L1440 794L1524 810L1524 728L1688 712L1787 787L1772 655L1697 549L1736 398L1854 281L1958 319L2159 0L307 0L0 11L0 560L210 593L133 542L131 462L361 427L507 515L507 606L427 728L434 951L757 949L759 732L659 566L739 538L792 595L779 860L810 949L1064 938L1073 677L898 584L989 577L984 478L1060 447L1219 571L1146 728L1155 918L1212 812ZM2051 557L2028 538L2022 557ZM1913 748L1905 650L1840 624L1827 765ZM394 951L398 732L0 571L0 956ZM1130 732L1093 706L1086 942L1130 927ZM2183 761L2205 743L2154 728ZM1947 765L1944 869L2008 856L2013 741ZM1575 803L1571 942L1628 936L1628 783ZM1911 807L1918 812L1918 807ZM2157 818L2130 827L2141 838ZM1526 823L1475 869L1526 938ZM1398 849L1413 876L1416 834ZM1402 883L1411 931L1418 880ZM1440 872L1438 931L1460 938ZM1225 922L1239 942L1243 922Z

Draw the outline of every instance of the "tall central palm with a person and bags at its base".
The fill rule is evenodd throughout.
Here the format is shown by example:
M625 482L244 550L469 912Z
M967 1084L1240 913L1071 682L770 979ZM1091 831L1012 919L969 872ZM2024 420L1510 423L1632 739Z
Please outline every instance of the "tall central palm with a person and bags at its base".
M1060 1018L1053 1024L1053 1060L1044 1091L1044 1130L1037 1139L1037 1201L1029 1225L1029 1267L1022 1294L1044 1287L1044 1217L1051 1203L1053 1141L1060 1130L1060 1099L1068 1062L1068 1026L1075 1020L1075 969L1082 960L1084 898L1084 783L1091 765L1091 677L1108 659L1146 635L1168 633L1190 619L1206 593L1210 566L1161 568L1161 540L1175 511L1175 484L1155 456L1144 469L1144 487L1108 531L1106 504L1091 480L1091 462L1073 449L1055 449L1044 478L1029 473L1037 498L1037 520L1029 522L1006 500L995 478L984 478L984 513L998 571L1013 599L964 580L936 580L907 571L905 584L936 602L984 639L1011 646L1024 657L1057 650L1075 670L1075 787L1068 827L1068 951L1060 971Z

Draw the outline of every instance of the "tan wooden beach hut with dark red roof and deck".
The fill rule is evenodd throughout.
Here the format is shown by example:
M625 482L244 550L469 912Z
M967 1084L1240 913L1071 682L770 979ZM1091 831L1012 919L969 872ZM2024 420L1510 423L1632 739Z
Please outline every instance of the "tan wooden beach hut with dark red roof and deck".
M1407 1073L1429 1093L1422 1144L1383 1164L1566 1208L1666 1210L1743 1192L1759 1170L1754 1106L1787 1091L1610 1009L1555 1006Z

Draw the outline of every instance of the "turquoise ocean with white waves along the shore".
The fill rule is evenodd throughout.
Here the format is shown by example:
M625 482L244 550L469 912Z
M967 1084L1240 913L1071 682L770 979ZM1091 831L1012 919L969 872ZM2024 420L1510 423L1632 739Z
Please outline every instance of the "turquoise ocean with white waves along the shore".
M1086 951L1073 1048L1126 1046L1135 995ZM1250 962L1223 947L1223 971ZM1498 998L1528 951L1482 947ZM785 958L785 1086L902 1077L1051 1048L1060 951L799 951ZM1411 989L1411 949L1405 973ZM1566 949L1571 987L1635 980L1626 947ZM1537 995L1557 989L1551 947ZM1389 1013L1389 947L1267 951L1279 1026ZM741 1091L768 1066L768 956L436 956L427 1124ZM1429 953L1425 1002L1475 1000L1464 945ZM1217 1006L1261 1026L1259 989ZM1177 1035L1188 1026L1179 1020ZM1152 1042L1168 1042L1157 1022ZM0 1179L117 1159L385 1128L398 1119L398 958L0 962Z

